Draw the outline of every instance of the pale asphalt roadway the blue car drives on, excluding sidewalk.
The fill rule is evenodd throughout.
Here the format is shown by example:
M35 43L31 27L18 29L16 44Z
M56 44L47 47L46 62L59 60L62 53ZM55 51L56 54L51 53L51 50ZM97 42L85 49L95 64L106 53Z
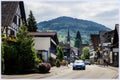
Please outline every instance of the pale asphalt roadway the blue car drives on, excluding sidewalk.
M118 77L118 69L104 66L87 65L86 70L70 69L48 78L52 79L114 79Z

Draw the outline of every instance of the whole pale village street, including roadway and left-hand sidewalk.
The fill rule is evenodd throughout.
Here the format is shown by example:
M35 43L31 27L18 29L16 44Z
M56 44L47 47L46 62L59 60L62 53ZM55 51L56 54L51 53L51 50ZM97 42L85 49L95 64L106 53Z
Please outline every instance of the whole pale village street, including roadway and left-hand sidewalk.
M49 73L2 75L2 79L118 79L118 68L87 65L86 70L72 70L72 65L52 67Z

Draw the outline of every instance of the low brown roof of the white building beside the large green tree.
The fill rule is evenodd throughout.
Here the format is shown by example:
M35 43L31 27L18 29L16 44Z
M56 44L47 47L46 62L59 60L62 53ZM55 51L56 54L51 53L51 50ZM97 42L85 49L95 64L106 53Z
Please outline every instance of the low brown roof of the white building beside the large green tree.
M51 37L57 44L59 43L56 32L30 32L34 37Z

